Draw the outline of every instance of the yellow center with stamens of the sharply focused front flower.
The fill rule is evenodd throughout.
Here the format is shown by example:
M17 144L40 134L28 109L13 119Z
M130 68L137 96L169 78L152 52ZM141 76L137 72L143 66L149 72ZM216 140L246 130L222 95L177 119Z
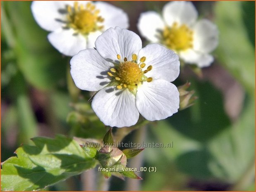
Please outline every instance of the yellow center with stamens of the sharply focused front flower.
M117 59L120 60L120 55L117 55ZM147 78L144 74L152 70L152 65L148 66L146 70L142 69L146 66L144 63L146 57L141 57L139 63L137 62L137 55L132 55L132 60L127 61L124 57L124 62L115 64L115 68L111 68L108 75L112 77L110 85L115 85L117 89L128 88L134 95L136 95L137 86L142 82L151 82L152 77Z

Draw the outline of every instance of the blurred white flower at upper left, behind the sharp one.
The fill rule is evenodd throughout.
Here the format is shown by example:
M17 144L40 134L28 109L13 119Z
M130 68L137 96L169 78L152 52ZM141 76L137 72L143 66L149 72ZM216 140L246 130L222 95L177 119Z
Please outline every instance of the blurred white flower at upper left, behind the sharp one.
M31 10L39 26L52 31L50 43L67 56L93 48L96 38L110 27L129 26L127 14L105 2L34 1Z

